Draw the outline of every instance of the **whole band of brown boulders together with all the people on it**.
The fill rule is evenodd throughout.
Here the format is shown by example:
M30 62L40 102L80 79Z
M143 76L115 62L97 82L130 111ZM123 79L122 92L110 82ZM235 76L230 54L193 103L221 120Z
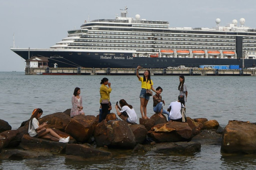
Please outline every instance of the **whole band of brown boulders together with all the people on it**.
M64 112L49 114L40 118L43 110L34 109L29 120L21 127L11 130L8 122L0 119L0 159L12 157L35 158L64 153L66 159L95 160L110 159L109 148L133 149L132 152L162 152L166 154L193 154L199 152L201 144L221 145L222 153L255 153L256 137L254 123L230 120L222 129L217 120L186 117L182 121L182 108L187 100L185 77L179 76L179 98L163 109L163 89L153 87L150 70L145 70L141 81L139 124L132 105L121 99L115 103L115 113L111 113L111 83L101 80L98 116L87 115L83 111L80 88L76 87L72 96L72 108ZM108 87L107 87L107 86ZM147 103L153 95L153 111L147 117ZM167 118L166 118L166 116ZM232 129L232 130L231 130ZM142 145L143 144L143 145ZM3 150L5 148L5 150Z

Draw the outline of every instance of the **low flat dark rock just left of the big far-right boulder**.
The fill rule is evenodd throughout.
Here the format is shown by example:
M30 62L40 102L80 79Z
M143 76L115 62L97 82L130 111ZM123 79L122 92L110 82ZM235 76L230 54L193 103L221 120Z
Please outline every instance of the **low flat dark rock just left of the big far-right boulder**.
M222 135L213 130L203 130L198 135L195 135L191 141L205 145L221 145Z

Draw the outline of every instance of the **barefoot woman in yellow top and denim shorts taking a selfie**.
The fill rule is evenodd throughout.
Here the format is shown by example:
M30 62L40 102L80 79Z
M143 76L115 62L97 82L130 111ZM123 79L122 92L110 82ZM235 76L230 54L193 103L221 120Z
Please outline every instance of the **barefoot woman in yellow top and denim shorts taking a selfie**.
M147 103L149 102L150 96L146 94L146 90L152 90L153 92L157 93L153 87L153 81L150 78L150 71L145 70L143 77L139 76L139 69L141 66L138 66L136 69L136 76L138 77L139 81L141 81L141 94L139 98L141 100L141 116L143 119L149 119L147 117Z

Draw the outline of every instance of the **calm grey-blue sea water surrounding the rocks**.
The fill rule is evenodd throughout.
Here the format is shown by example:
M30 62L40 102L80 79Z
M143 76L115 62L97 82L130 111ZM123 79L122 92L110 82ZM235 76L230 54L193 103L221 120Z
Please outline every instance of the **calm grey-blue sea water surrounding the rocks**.
M30 118L34 108L43 115L71 108L75 87L81 88L87 115L98 114L99 87L103 77L111 82L110 101L120 99L133 105L138 117L141 83L134 76L53 76L25 75L24 72L0 72L0 119L17 129ZM153 87L163 88L162 99L168 105L176 101L178 76L152 76ZM256 76L185 76L188 88L186 114L191 118L215 119L222 127L229 120L256 122ZM115 111L114 109L112 110ZM153 115L152 97L147 115ZM138 123L138 122L137 122ZM223 156L220 146L202 145L194 155L168 155L152 152L133 154L130 150L112 151L108 161L73 162L64 155L50 158L0 161L0 169L255 169L256 155Z

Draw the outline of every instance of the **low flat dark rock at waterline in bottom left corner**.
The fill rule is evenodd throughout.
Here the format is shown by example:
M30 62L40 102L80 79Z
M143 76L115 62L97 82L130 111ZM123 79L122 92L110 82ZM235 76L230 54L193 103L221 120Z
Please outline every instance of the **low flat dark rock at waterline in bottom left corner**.
M26 151L20 149L7 149L0 153L0 160L7 159L27 159L27 158L41 158L53 156L53 154L48 152L39 152L39 151Z

